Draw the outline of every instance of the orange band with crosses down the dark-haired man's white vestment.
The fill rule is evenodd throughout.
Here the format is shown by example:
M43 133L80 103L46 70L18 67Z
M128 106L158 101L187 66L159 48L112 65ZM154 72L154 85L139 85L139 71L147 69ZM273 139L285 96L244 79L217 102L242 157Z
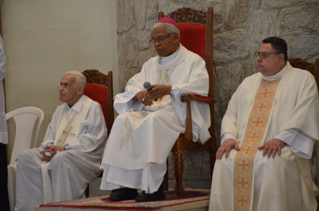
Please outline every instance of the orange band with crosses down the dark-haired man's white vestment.
M254 160L257 147L262 145L272 104L281 78L274 81L262 79L249 114L240 150L234 159L234 211L250 210L254 177Z

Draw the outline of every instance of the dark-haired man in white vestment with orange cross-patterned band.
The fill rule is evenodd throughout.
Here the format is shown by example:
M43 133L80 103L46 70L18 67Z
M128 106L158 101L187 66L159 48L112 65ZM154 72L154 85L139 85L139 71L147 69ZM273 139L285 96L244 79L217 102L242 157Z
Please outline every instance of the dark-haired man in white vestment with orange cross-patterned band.
M222 120L209 210L315 211L315 78L287 62L281 38L264 39L256 56L259 73L240 84Z

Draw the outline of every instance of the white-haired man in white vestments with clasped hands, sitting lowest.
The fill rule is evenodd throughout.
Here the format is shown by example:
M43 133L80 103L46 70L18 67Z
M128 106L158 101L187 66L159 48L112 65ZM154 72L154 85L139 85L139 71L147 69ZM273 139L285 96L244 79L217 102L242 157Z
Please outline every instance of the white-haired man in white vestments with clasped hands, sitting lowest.
M99 103L83 95L86 79L73 70L61 79L60 100L40 148L19 154L16 211L84 198L100 173L107 129Z

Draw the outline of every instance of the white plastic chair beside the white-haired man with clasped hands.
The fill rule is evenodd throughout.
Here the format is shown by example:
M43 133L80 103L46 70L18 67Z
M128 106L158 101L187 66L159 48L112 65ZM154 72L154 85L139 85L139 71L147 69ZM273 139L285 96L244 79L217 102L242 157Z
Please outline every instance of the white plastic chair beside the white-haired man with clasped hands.
M16 123L16 137L13 144L10 164L8 165L8 193L11 211L14 210L16 204L16 169L19 153L23 150L31 149L33 127L35 121L39 118L39 125L33 144L33 147L36 146L43 117L43 111L36 107L19 108L5 115L7 121L13 118Z

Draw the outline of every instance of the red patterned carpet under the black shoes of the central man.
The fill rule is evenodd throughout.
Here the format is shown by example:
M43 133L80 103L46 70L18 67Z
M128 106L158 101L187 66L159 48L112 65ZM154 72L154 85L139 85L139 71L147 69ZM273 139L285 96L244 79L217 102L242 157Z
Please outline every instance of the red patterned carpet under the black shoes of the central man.
M208 192L209 193L209 192ZM201 191L185 191L183 198L177 198L173 191L165 192L166 199L153 202L110 201L109 195L89 197L85 199L61 201L56 203L42 204L41 207L69 207L79 209L105 209L105 210L156 210L161 207L170 207L209 200L209 194Z

